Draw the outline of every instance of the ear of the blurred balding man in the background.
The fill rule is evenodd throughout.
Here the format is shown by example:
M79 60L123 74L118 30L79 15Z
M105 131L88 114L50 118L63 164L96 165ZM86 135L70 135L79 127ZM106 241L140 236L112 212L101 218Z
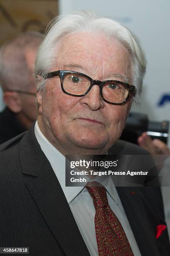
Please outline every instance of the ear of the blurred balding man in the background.
M22 110L20 96L18 92L4 92L3 100L7 107L15 114L20 113Z

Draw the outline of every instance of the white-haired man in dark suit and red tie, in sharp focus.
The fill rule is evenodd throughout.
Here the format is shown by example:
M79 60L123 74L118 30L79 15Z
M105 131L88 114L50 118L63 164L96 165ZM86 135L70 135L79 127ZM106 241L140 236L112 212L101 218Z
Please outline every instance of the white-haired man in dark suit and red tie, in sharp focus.
M135 36L109 18L78 12L53 23L35 65L37 122L0 148L1 247L170 255L159 188L65 187L66 154L146 154L118 141L145 64Z

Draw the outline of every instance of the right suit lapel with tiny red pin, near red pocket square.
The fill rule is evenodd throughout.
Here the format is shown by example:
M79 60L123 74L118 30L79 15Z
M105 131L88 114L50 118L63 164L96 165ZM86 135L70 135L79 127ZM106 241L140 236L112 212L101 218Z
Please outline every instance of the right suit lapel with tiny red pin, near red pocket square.
M153 227L146 214L139 191L137 187L117 187L117 192L142 256L160 256L155 243Z

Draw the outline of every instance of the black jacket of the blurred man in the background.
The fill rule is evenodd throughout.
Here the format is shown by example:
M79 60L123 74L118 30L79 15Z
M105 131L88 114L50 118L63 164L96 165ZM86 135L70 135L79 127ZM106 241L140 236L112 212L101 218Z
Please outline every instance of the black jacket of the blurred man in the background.
M9 108L5 108L5 110L0 113L0 144L26 130L27 129L16 118L15 113L10 111Z

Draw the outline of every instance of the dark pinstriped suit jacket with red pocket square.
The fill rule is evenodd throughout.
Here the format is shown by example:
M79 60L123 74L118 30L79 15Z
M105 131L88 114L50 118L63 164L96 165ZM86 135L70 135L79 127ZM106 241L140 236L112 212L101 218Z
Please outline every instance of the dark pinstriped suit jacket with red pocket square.
M110 153L146 154L118 141ZM135 194L131 193L132 190ZM169 256L160 189L117 188L142 256ZM0 146L0 247L29 247L30 255L88 256L64 193L33 127Z

